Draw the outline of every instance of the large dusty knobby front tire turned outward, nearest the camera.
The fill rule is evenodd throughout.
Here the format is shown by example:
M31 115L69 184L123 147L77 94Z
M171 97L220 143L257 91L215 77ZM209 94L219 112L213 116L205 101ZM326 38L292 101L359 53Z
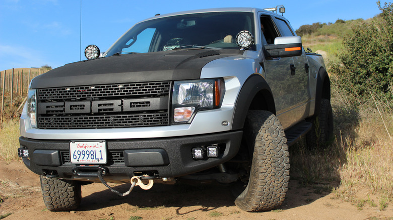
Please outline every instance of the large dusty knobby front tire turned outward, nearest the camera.
M244 134L252 163L248 183L235 204L245 211L266 211L282 204L288 191L289 152L281 123L273 113L249 111Z

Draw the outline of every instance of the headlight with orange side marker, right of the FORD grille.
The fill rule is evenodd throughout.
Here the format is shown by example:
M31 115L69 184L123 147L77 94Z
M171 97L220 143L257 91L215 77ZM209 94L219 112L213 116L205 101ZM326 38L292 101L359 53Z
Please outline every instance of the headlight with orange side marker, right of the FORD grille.
M223 79L175 81L173 85L173 122L187 123L198 111L219 108L224 97Z

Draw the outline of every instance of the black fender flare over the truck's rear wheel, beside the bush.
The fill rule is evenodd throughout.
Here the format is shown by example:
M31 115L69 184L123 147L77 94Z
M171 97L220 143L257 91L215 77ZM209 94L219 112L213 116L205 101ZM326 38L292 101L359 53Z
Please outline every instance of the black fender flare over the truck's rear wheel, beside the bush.
M326 72L326 70L323 67L320 67L316 78L314 116L317 116L319 114L320 102L322 98L326 98L330 100L330 97L331 97L330 78L328 72Z

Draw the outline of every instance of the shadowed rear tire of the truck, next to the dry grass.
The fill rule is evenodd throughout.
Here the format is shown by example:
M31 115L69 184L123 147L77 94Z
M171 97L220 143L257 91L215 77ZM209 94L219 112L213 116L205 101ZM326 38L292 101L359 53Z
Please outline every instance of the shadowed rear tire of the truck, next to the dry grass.
M325 149L333 141L333 112L329 99L322 98L318 116L309 120L311 130L306 134L306 144L309 150Z

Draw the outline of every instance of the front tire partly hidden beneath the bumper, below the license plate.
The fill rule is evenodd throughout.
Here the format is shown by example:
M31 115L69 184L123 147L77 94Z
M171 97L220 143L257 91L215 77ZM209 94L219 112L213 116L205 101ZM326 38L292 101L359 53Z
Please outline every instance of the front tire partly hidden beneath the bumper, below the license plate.
M69 211L79 207L82 199L81 185L73 180L40 176L42 197L50 211Z

